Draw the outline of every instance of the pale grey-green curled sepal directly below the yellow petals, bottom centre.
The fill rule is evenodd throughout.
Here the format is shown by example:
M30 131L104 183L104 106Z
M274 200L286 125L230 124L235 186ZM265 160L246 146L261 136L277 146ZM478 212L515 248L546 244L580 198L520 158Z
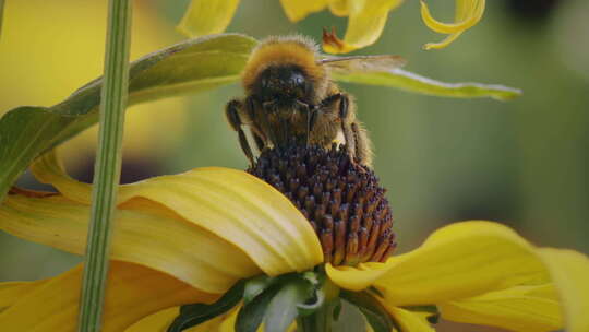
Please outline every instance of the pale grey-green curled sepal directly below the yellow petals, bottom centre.
M312 296L313 286L308 281L294 280L284 284L272 299L265 315L265 332L284 332L299 316L298 306Z

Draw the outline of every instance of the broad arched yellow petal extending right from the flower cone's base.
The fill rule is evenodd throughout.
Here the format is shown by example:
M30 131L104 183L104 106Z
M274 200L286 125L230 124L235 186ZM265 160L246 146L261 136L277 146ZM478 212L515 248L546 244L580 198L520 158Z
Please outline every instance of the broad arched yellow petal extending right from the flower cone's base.
M398 306L438 304L549 280L526 240L490 222L443 227L418 249L392 257L386 263L365 263L358 269L327 266L326 271L344 288L374 285L389 305Z

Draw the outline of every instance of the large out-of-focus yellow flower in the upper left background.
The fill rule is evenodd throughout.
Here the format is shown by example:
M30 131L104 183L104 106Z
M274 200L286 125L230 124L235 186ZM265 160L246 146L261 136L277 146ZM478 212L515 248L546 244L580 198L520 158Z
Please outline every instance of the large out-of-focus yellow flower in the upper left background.
M104 1L8 1L0 39L0 116L21 105L51 106L100 76L106 17ZM137 3L131 58L176 42L171 31L154 8ZM125 158L157 157L169 150L182 137L168 133L183 130L184 110L182 98L132 107L125 121ZM68 166L75 169L84 157L92 157L96 140L97 128L93 128L67 142Z

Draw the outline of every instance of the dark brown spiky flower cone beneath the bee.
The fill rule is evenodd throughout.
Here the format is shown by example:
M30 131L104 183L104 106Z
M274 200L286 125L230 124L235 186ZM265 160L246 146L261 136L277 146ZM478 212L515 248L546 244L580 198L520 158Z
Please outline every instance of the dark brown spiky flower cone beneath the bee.
M325 262L384 262L397 244L386 190L345 146L288 144L262 152L248 171L278 189L309 220Z

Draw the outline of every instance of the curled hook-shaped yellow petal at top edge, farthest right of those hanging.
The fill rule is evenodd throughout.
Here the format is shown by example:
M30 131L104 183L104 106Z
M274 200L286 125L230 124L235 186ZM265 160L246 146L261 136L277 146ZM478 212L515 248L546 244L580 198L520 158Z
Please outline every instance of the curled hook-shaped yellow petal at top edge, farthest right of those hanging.
M424 0L421 0L421 17L425 25L436 33L449 34L441 43L428 43L424 49L444 48L456 40L462 32L481 21L484 13L485 0L456 0L455 23L442 23L435 20Z

